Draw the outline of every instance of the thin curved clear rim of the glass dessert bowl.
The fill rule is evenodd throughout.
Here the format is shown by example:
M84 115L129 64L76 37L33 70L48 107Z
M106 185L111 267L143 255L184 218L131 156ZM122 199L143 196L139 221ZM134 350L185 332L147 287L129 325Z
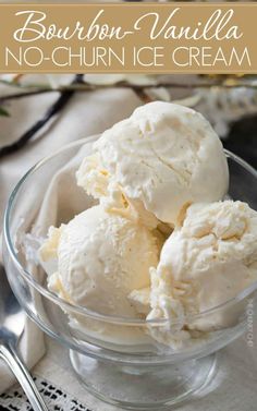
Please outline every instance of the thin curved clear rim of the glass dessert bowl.
M135 318L135 317L124 317L124 316L119 316L119 315L106 315L106 314L100 314L100 313L97 313L93 310L86 309L85 306L75 304L73 302L68 302L66 300L60 298L56 293L51 292L50 290L48 290L47 288L41 286L34 278L33 274L30 274L26 268L24 268L23 265L17 259L15 246L12 242L12 235L11 235L11 232L10 232L10 223L9 222L11 220L11 213L12 213L12 206L13 206L14 200L19 195L21 188L23 186L23 184L26 182L27 178L33 172L38 170L41 166L44 166L47 161L49 161L53 157L60 155L61 153L63 153L63 152L65 152L70 148L73 148L73 147L76 147L76 146L82 147L84 144L89 144L89 143L96 141L98 137L99 137L99 134L96 134L96 135L91 135L89 137L84 137L84 138L77 140L77 141L70 143L68 145L64 145L61 149L53 152L51 155L44 157L41 160L36 162L36 165L34 165L32 168L29 168L28 171L20 179L20 181L17 182L17 184L13 189L13 191L12 191L12 193L11 193L9 200L8 200L8 204L7 204L5 211L4 211L3 241L5 242L7 250L8 250L9 254L12 258L12 262L17 267L19 273L22 275L24 280L26 282L28 282L34 289L36 289L41 295L51 300L53 303L57 303L58 305L63 306L66 311L75 312L77 314L85 315L85 316L93 318L93 319L98 319L98 321L110 323L110 324L126 325L126 326L143 326L143 325L144 326L146 326L146 325L159 325L160 326L160 325L169 324L170 323L169 318L143 319L143 318ZM238 157L237 155L233 154L232 152L230 152L228 149L224 149L224 153L225 153L227 158L231 158L233 161L235 161L237 165L240 165L242 168L244 168L246 171L248 171L250 174L253 174L257 179L257 170L255 170L254 167L252 167L248 162L246 162L241 157ZM197 321L197 319L203 318L203 316L210 315L210 314L216 313L219 310L223 310L223 309L227 309L229 306L232 306L233 304L238 303L242 300L246 299L255 290L257 290L257 281L252 283L247 289L241 291L238 294L236 294L232 299L230 299L225 302L222 302L221 304L219 304L217 306L205 310L200 313L191 314L191 315L187 314L182 319L178 319L178 322L176 321L172 322L172 325L174 325L174 326L181 325L182 321L183 321L183 324L185 324L185 322Z

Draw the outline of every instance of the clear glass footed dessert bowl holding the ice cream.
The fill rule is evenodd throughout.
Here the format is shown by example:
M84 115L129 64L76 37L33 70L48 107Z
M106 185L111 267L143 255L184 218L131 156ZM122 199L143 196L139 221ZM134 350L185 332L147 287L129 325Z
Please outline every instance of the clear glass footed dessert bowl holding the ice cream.
M172 349L152 336L181 329L178 321L145 321L102 315L69 303L47 288L47 275L24 257L24 238L37 217L53 176L83 147L90 150L97 136L63 147L33 167L17 183L5 211L3 256L10 285L28 316L52 338L70 349L72 366L85 387L106 402L133 410L169 408L205 387L216 370L216 353L247 327L247 306L256 298L253 285L233 300L184 319L222 326L197 335ZM227 152L229 196L257 209L257 172ZM75 172L75 168L74 168ZM69 188L69 181L66 182ZM79 190L79 189L77 189ZM65 207L65 204L61 204ZM83 210L83 204L81 205ZM58 223L79 209L65 209ZM45 228L45 234L48 227ZM222 322L221 322L222 319ZM217 323L217 324L218 324Z

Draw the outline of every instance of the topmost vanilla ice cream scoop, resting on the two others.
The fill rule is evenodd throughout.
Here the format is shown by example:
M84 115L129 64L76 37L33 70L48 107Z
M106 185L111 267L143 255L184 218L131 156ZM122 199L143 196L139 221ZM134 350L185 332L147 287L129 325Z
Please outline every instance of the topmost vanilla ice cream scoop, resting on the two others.
M228 189L221 142L196 111L155 101L107 130L77 171L78 185L96 197L118 186L126 200L174 225L188 203L211 202Z

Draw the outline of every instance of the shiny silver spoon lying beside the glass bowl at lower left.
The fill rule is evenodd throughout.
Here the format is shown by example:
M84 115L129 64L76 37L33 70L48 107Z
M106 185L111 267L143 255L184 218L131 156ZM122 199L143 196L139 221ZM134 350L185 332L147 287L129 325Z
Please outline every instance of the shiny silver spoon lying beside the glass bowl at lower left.
M48 411L30 374L16 353L26 314L19 304L0 265L0 359L9 365L35 411Z

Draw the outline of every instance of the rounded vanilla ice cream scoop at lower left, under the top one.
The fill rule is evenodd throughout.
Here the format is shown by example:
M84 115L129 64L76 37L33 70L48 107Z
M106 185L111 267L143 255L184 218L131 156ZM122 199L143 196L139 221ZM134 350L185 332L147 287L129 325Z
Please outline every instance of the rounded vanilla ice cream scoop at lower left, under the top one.
M40 256L56 258L49 286L64 299L105 315L133 317L127 297L149 286L149 267L157 266L160 246L143 225L98 205L51 228Z

